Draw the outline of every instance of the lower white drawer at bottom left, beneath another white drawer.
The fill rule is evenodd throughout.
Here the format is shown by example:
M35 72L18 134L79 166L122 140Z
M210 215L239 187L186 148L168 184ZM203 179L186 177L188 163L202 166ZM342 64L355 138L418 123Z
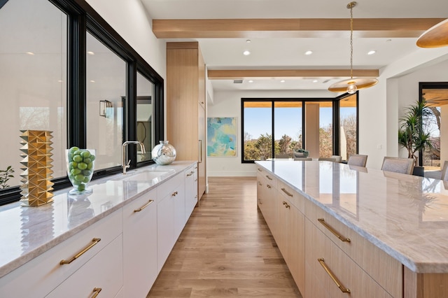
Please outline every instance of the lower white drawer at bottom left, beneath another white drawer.
M115 297L123 287L123 235L120 234L47 298Z

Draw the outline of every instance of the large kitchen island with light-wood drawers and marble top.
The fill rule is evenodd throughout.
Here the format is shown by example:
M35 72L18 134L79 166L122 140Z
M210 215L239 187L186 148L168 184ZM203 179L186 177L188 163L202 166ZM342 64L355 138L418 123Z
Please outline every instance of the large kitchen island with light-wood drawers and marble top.
M304 297L448 297L447 183L333 162L256 164L258 206L288 266L299 255L291 271ZM288 245L292 212L302 241Z

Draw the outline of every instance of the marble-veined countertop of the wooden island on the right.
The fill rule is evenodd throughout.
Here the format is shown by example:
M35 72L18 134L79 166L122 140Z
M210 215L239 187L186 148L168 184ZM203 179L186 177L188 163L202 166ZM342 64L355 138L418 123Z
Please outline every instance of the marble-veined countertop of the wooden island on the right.
M256 162L417 273L448 273L448 183L334 162Z

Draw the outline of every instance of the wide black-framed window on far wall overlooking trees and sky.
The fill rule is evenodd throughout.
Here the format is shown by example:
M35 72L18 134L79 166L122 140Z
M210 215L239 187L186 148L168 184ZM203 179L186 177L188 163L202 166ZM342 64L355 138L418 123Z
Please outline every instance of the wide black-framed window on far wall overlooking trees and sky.
M334 99L241 99L241 162L292 158L300 148L315 158L344 152L346 160L358 150L357 103L358 93Z

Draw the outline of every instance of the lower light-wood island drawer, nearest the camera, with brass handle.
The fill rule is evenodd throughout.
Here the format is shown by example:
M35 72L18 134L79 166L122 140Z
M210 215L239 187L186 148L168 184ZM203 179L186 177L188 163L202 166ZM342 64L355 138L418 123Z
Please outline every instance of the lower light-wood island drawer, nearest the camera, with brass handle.
M309 220L305 221L305 239L306 298L392 297ZM337 279L340 288L332 277ZM342 292L342 289L350 293Z

